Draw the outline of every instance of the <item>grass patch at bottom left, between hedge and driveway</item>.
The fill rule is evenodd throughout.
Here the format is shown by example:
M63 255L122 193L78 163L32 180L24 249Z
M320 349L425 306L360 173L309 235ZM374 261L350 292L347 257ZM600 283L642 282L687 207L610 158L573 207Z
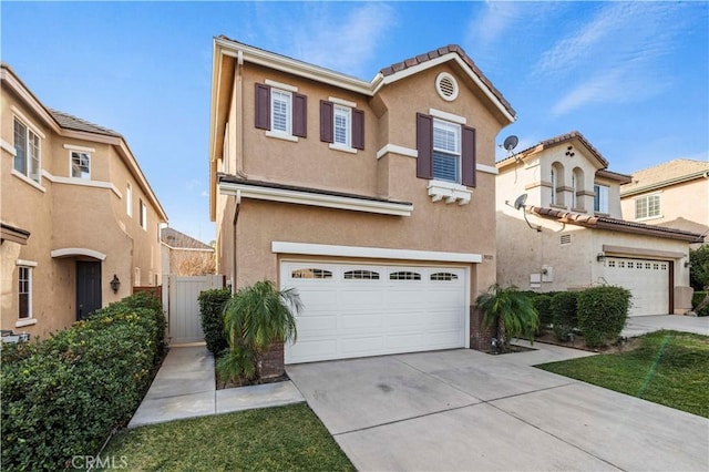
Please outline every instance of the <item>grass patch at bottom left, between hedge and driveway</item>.
M354 470L306 403L126 430L110 458L131 471Z

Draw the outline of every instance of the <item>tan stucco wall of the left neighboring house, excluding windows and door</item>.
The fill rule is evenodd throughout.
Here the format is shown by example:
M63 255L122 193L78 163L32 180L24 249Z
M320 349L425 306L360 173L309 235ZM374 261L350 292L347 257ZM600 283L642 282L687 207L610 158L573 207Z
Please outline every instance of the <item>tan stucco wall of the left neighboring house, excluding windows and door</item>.
M88 256L52 258L56 249L79 248L105 255L101 269L102 304L119 300L132 293L134 268L144 274L144 285L153 285L161 274L158 209L135 175L129 171L116 145L105 137L91 141L58 133L33 111L37 104L18 99L9 86L2 88L0 157L0 217L2 222L31 233L27 245L4 240L1 246L2 329L32 336L66 328L75 320L76 260L96 260ZM14 107L14 109L13 109ZM13 174L13 116L19 110L22 121L39 131L41 167L44 175L35 185ZM21 117L22 117L21 116ZM70 150L81 146L91 152L91 182L68 179ZM125 188L133 187L133 216L126 214ZM89 185L82 185L82 184ZM94 185L97 183L97 186ZM147 206L147 230L140 227L138 204ZM17 260L37 263L32 269L32 318L34 325L18 325ZM120 290L114 294L109 281L116 275Z

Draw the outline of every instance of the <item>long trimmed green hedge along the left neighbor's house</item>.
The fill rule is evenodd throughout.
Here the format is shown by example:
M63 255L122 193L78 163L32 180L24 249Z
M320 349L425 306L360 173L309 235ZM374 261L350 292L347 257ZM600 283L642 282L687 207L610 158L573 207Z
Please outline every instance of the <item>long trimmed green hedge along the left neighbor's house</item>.
M60 470L125 425L165 352L160 300L136 294L43 341L3 345L2 468Z

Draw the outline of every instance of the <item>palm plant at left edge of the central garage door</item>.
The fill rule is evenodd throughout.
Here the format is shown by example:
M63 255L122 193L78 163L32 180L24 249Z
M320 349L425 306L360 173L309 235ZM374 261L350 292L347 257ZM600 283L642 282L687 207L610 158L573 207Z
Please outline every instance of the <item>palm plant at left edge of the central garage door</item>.
M260 377L260 363L275 342L297 339L296 315L302 302L296 289L277 290L263 280L240 288L224 306L224 330L229 350L217 362L222 378Z

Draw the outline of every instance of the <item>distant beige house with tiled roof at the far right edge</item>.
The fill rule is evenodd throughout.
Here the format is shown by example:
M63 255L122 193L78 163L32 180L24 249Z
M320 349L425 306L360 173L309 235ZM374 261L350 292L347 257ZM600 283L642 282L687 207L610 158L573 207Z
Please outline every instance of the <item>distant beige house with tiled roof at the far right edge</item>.
M620 186L629 222L709 234L709 162L678 158L634 172Z

